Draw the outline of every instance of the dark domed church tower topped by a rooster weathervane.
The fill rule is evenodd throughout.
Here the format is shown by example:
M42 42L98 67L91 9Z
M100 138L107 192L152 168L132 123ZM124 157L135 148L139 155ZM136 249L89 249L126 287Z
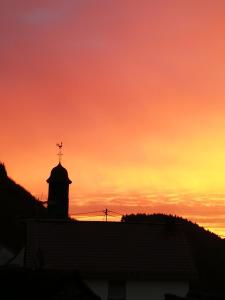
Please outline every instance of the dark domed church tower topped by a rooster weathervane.
M48 189L48 215L50 218L68 218L69 210L69 185L72 181L68 177L67 170L61 165L61 148L59 145L59 164L51 171L47 179Z

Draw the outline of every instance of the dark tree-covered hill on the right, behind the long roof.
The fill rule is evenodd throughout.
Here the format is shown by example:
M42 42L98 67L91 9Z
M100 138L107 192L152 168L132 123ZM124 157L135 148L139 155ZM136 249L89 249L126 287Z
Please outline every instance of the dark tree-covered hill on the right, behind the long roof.
M124 215L122 222L165 224L168 230L181 230L190 244L198 272L193 290L224 292L225 243L216 234L182 217L166 214Z

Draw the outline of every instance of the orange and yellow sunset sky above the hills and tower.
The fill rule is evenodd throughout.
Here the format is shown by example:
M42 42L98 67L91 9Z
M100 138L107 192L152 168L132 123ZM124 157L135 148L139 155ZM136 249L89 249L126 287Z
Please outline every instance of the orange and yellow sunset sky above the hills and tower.
M71 215L225 236L225 1L1 0L0 96L0 160L41 200L62 141Z

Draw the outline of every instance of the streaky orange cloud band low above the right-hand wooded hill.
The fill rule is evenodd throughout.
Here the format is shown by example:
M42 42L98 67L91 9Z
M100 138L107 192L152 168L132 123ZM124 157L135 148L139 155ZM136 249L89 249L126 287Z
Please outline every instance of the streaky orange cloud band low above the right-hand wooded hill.
M102 211L98 217L87 215L93 219L101 219L105 208L119 213L166 213L182 216L199 225L225 234L225 195L194 193L92 193L80 194L71 200L70 211L76 217L80 212ZM85 214L82 215L82 219ZM79 216L77 216L79 219ZM114 216L115 217L115 216ZM112 219L114 220L114 219Z

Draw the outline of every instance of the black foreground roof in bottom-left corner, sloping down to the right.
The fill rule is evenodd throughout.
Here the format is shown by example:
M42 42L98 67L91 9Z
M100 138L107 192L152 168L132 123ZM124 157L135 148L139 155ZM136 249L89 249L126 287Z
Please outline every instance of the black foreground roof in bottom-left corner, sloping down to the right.
M3 299L101 300L77 272L52 270L0 269Z

